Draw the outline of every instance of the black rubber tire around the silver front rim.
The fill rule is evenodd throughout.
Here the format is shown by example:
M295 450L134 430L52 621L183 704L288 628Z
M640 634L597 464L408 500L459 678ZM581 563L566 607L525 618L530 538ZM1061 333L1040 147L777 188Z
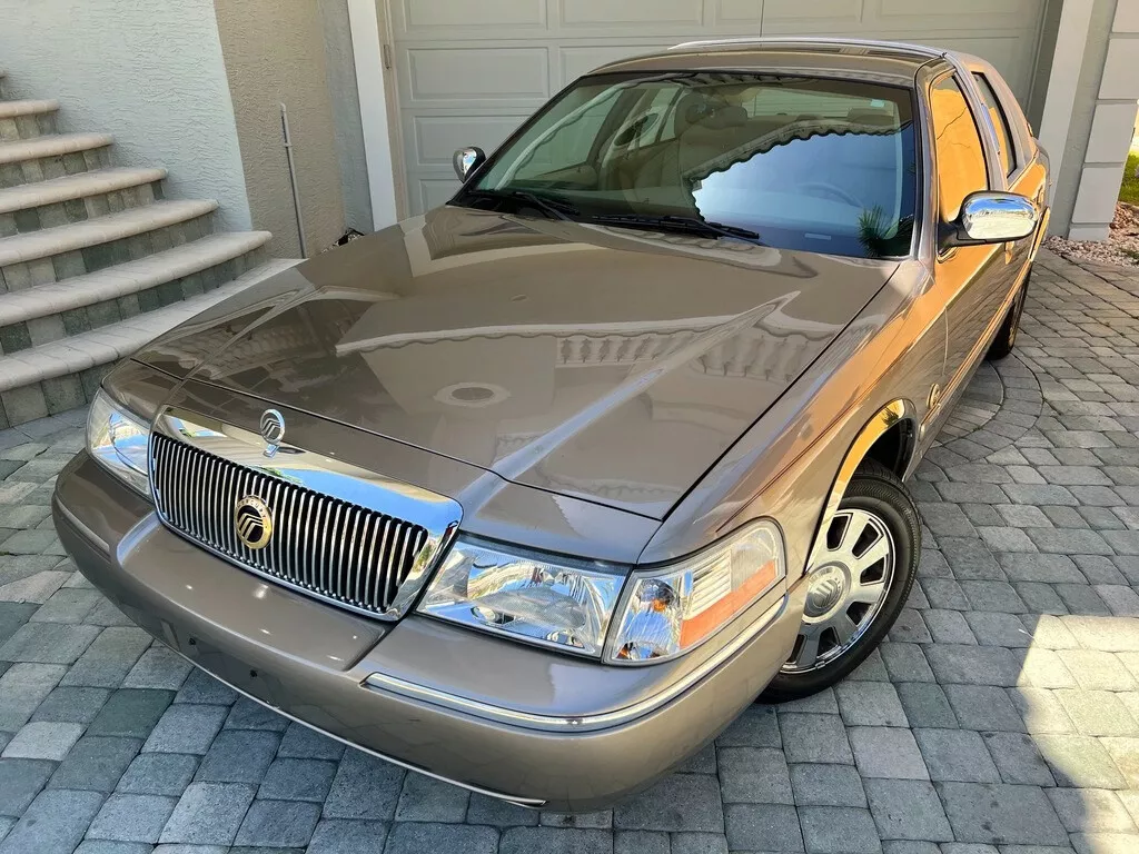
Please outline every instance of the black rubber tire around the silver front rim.
M874 514L893 537L894 569L885 602L853 646L818 670L776 674L760 696L760 703L802 699L845 679L886 637L910 596L921 555L921 523L917 506L901 478L885 466L872 460L865 461L851 478L838 506L839 512L844 509Z

